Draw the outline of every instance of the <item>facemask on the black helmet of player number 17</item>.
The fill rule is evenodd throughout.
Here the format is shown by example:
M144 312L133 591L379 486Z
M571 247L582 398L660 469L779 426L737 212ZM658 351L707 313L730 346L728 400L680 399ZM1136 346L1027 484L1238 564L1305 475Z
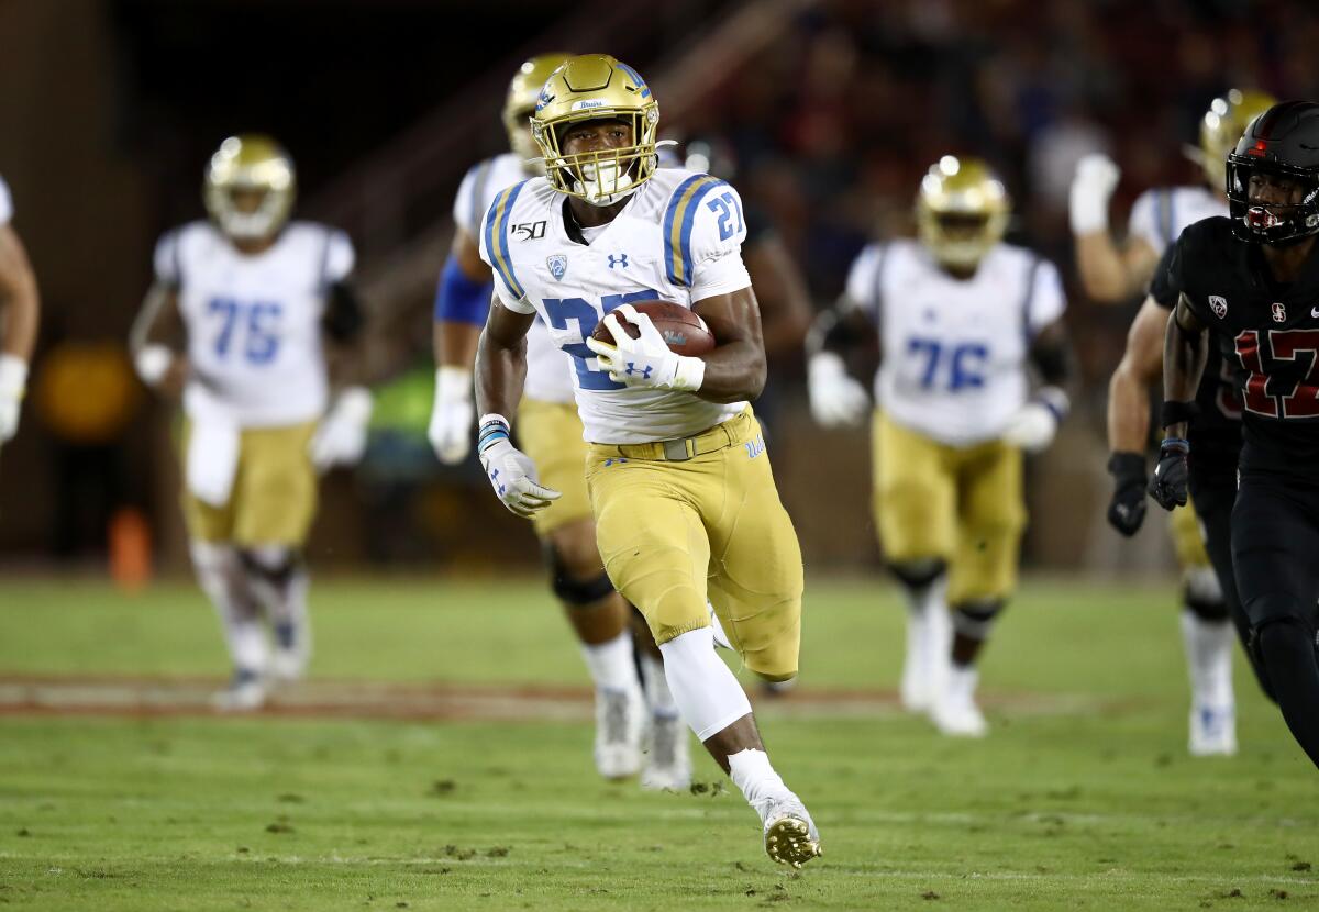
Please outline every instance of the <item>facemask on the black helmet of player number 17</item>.
M1252 198L1252 178L1256 178L1256 183L1282 181L1298 186L1301 200L1262 202L1257 194ZM1237 239L1254 244L1289 246L1319 235L1319 174L1312 169L1258 161L1249 154L1232 153L1227 162L1227 185L1232 232ZM1297 190L1293 188L1290 196L1297 195Z

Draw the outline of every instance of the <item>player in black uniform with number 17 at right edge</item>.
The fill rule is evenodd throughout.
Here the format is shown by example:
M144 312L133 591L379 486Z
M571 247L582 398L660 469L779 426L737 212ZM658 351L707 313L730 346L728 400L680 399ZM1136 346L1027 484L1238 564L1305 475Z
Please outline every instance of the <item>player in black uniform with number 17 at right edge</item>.
M1212 336L1237 365L1244 406L1232 564L1250 648L1319 766L1319 104L1260 115L1227 177L1231 217L1187 228L1165 270L1178 304L1150 494L1165 509L1186 503L1188 463L1199 460L1187 427Z

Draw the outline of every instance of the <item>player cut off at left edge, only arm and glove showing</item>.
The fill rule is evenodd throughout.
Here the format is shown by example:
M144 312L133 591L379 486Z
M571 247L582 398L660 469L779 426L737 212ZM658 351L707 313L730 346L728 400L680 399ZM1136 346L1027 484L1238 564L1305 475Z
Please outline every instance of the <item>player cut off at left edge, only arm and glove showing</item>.
M0 447L18 432L28 364L41 322L37 278L12 219L13 199L0 178Z

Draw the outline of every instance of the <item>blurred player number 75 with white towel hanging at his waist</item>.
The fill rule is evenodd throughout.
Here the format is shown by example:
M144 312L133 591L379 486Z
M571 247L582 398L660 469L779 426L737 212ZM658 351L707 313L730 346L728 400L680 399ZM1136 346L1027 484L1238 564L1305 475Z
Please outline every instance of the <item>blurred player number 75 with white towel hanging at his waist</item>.
M224 709L260 706L273 681L303 673L317 470L360 459L371 419L361 386L330 403L326 348L351 343L363 323L347 283L352 244L288 223L294 186L273 140L227 138L206 173L211 220L161 237L131 340L148 385L182 390L183 517L233 659Z

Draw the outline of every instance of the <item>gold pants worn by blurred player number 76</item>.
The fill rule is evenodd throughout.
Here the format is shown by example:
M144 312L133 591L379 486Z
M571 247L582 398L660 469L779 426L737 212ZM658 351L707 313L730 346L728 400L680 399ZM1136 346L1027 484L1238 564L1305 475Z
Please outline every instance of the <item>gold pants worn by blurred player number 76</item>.
M1026 527L1021 451L1001 440L951 447L876 411L874 525L885 559L948 564L948 602L1006 598Z

